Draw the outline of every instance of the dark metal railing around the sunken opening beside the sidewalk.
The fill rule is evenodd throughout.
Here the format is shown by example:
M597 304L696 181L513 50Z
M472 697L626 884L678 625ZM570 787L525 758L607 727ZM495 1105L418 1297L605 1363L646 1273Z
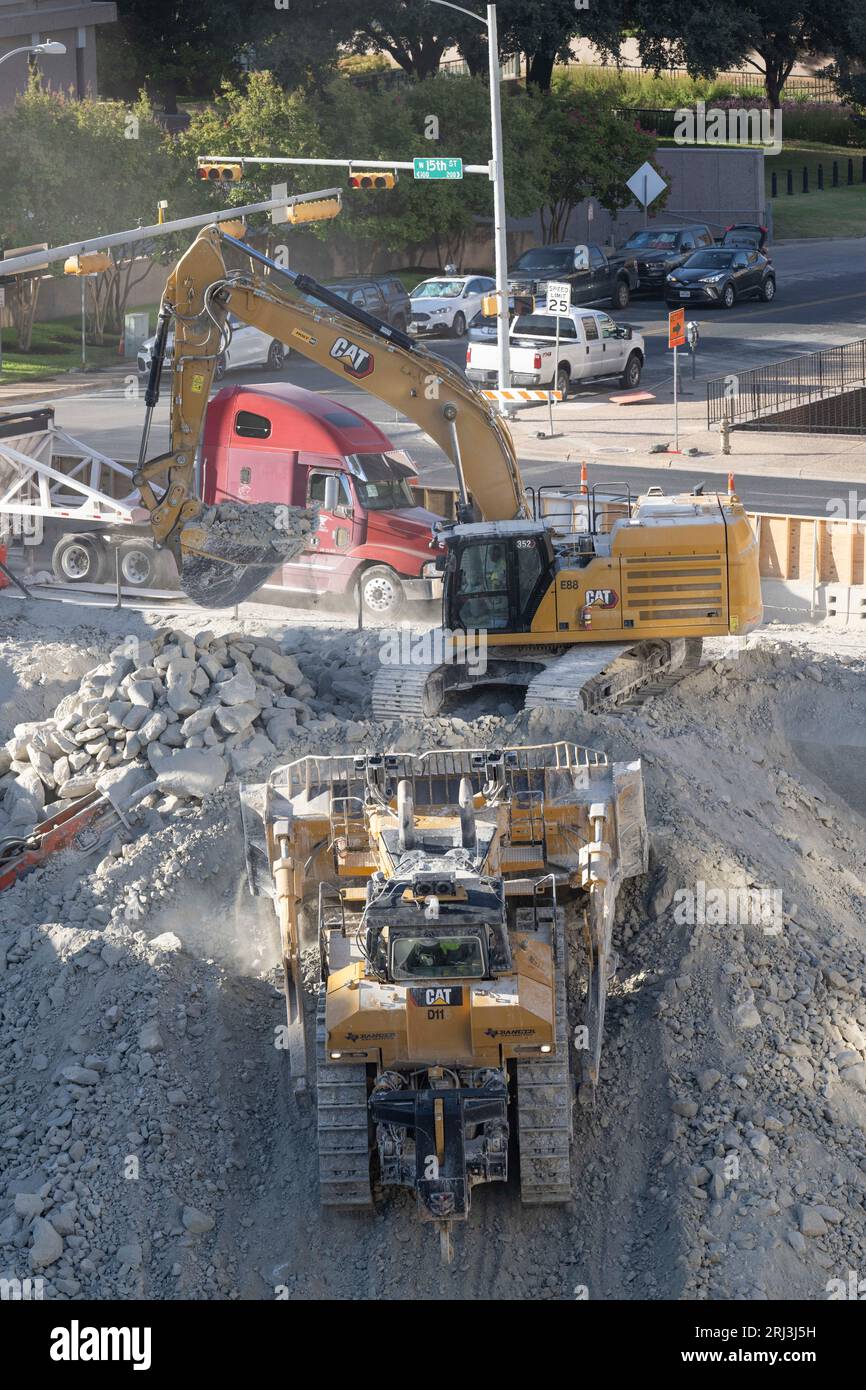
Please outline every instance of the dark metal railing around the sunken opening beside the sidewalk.
M866 338L714 377L706 384L708 427L723 420L731 428L866 434Z

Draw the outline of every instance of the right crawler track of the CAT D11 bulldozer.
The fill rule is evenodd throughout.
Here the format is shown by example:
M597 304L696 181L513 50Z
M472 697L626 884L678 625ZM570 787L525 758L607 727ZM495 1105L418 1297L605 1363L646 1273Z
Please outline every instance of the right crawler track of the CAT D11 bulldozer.
M532 909L523 909L531 915ZM548 917L553 916L548 909ZM541 916L541 912L539 912ZM525 1205L571 1201L571 1115L574 1091L569 1066L569 1005L566 992L566 915L556 909L556 1051L518 1062L517 1137L520 1200Z

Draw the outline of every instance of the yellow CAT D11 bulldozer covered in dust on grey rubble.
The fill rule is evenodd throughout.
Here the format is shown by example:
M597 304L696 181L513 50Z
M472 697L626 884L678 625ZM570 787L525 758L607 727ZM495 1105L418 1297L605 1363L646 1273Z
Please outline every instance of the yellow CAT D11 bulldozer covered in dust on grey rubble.
M322 1204L370 1207L375 1169L450 1258L473 1187L509 1176L513 1131L521 1200L569 1201L573 1061L595 1086L616 897L646 870L639 763L569 742L311 756L245 787L242 810L250 887L279 923L292 1072L316 1090Z

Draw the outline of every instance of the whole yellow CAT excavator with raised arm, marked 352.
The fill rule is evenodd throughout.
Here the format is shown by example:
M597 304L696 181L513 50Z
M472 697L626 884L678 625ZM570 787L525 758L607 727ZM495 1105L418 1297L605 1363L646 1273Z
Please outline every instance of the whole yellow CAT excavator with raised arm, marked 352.
M250 268L228 271L221 243ZM278 288L278 277L296 293ZM431 716L450 692L480 684L524 685L530 708L641 701L694 669L705 637L760 623L758 543L737 496L524 488L507 424L460 371L215 227L168 278L146 404L149 420L174 322L171 448L143 461L146 425L135 475L156 541L174 550L196 602L247 596L285 543L285 518L268 531L257 517L232 545L236 516L222 523L195 496L195 452L229 313L414 420L455 464L457 516L439 532L442 626L446 635L481 634L487 660L452 659L464 657L463 641L446 660L382 666L377 717Z

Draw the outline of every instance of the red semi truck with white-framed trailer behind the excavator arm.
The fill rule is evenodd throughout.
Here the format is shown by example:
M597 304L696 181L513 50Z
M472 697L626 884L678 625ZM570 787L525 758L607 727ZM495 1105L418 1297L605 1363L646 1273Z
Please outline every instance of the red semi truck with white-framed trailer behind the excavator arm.
M6 527L31 545L42 535L65 584L113 584L120 567L126 588L177 588L172 557L154 550L129 492L132 464L89 450L53 411L10 417L6 434L3 421L0 538ZM441 596L432 527L442 518L417 506L411 459L357 410L282 382L224 386L207 407L200 464L209 503L320 503L307 550L271 577L263 599L360 588L368 614L393 617L407 600Z

